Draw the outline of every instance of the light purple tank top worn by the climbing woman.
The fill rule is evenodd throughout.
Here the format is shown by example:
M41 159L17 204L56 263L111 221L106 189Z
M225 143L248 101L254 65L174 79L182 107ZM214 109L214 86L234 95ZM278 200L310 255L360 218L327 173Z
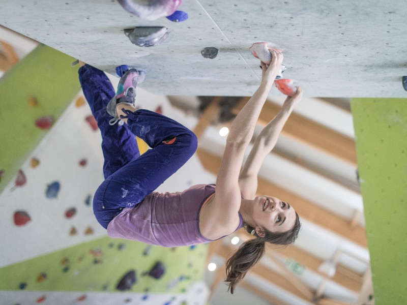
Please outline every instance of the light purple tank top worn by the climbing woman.
M214 185L195 185L177 193L153 192L135 207L124 208L113 218L107 226L107 234L164 247L212 241L199 231L199 212L214 193ZM239 218L236 230L243 227L240 214Z

